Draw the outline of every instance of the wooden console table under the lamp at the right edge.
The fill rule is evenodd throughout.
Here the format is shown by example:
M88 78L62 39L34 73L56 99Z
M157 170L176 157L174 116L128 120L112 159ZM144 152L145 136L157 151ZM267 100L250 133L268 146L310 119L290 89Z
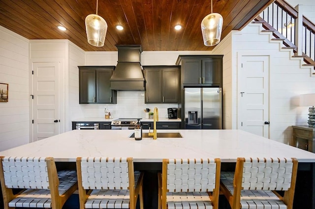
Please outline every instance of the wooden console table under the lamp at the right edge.
M292 125L291 146L315 152L315 127Z

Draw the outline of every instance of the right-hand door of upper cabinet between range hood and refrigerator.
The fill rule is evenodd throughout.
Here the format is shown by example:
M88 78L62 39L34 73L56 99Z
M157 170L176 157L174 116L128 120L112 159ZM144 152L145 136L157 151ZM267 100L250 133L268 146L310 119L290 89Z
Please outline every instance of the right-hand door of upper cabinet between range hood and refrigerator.
M177 103L178 102L178 69L163 69L163 102Z

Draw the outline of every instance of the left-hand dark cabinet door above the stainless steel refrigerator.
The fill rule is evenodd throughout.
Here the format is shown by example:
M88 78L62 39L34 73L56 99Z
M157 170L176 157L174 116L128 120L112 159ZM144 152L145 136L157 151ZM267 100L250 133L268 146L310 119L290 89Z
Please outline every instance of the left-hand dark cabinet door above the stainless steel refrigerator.
M201 67L201 59L183 60L183 84L201 84Z

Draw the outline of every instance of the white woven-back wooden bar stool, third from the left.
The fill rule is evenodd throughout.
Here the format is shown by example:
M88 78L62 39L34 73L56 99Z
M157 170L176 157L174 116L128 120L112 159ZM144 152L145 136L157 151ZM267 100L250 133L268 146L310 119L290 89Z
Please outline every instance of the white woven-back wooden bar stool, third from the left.
M163 159L158 209L218 209L221 160Z

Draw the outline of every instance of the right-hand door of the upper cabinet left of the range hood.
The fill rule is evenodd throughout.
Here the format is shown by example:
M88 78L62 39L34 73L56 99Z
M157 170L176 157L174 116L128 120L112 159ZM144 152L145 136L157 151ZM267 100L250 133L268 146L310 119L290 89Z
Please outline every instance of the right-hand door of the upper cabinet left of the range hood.
M96 70L96 103L112 103L113 94L110 90L110 78L113 70Z

